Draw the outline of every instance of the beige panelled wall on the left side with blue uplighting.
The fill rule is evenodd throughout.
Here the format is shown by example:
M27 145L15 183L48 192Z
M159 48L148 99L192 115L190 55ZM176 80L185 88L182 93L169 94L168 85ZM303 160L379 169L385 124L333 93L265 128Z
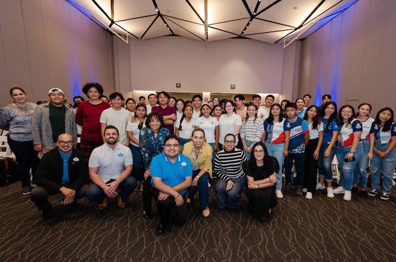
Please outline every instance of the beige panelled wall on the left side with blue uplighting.
M0 0L1 107L11 87L31 102L59 87L70 101L91 81L114 91L111 35L65 0Z

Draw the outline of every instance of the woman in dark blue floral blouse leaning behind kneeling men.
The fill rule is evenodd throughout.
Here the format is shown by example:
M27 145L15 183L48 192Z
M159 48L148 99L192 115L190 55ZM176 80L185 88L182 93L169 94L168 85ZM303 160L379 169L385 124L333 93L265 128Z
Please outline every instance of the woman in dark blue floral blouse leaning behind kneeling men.
M148 219L151 212L151 160L163 151L165 137L170 132L164 128L164 119L158 112L148 114L145 124L146 127L140 131L139 147L146 170L144 172L145 181L143 182L143 218Z

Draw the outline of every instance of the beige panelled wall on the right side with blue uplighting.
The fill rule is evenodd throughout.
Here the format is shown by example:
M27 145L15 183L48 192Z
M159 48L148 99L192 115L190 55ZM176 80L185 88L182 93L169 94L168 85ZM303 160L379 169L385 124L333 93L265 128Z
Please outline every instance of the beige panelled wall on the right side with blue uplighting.
M359 0L301 43L298 95L396 109L396 1Z

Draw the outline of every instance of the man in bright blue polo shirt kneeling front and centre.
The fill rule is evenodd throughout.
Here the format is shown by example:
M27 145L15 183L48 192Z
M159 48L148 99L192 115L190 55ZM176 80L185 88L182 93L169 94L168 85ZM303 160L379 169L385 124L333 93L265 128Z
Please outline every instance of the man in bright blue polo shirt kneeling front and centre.
M190 159L179 153L179 139L168 135L164 140L164 151L151 161L151 194L157 200L160 220L157 234L163 234L170 217L178 224L187 220L187 206L183 196L191 186L193 168Z

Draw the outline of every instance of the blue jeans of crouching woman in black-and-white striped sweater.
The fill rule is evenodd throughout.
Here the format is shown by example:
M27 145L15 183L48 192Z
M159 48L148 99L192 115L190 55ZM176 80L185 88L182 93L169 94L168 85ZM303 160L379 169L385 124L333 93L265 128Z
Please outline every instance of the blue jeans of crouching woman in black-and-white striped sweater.
M219 200L217 201L217 207L223 209L225 207L238 208L239 202L241 201L241 193L246 185L246 176L241 176L237 178L230 178L235 184L231 190L226 191L227 182L219 178L216 185L214 186Z

